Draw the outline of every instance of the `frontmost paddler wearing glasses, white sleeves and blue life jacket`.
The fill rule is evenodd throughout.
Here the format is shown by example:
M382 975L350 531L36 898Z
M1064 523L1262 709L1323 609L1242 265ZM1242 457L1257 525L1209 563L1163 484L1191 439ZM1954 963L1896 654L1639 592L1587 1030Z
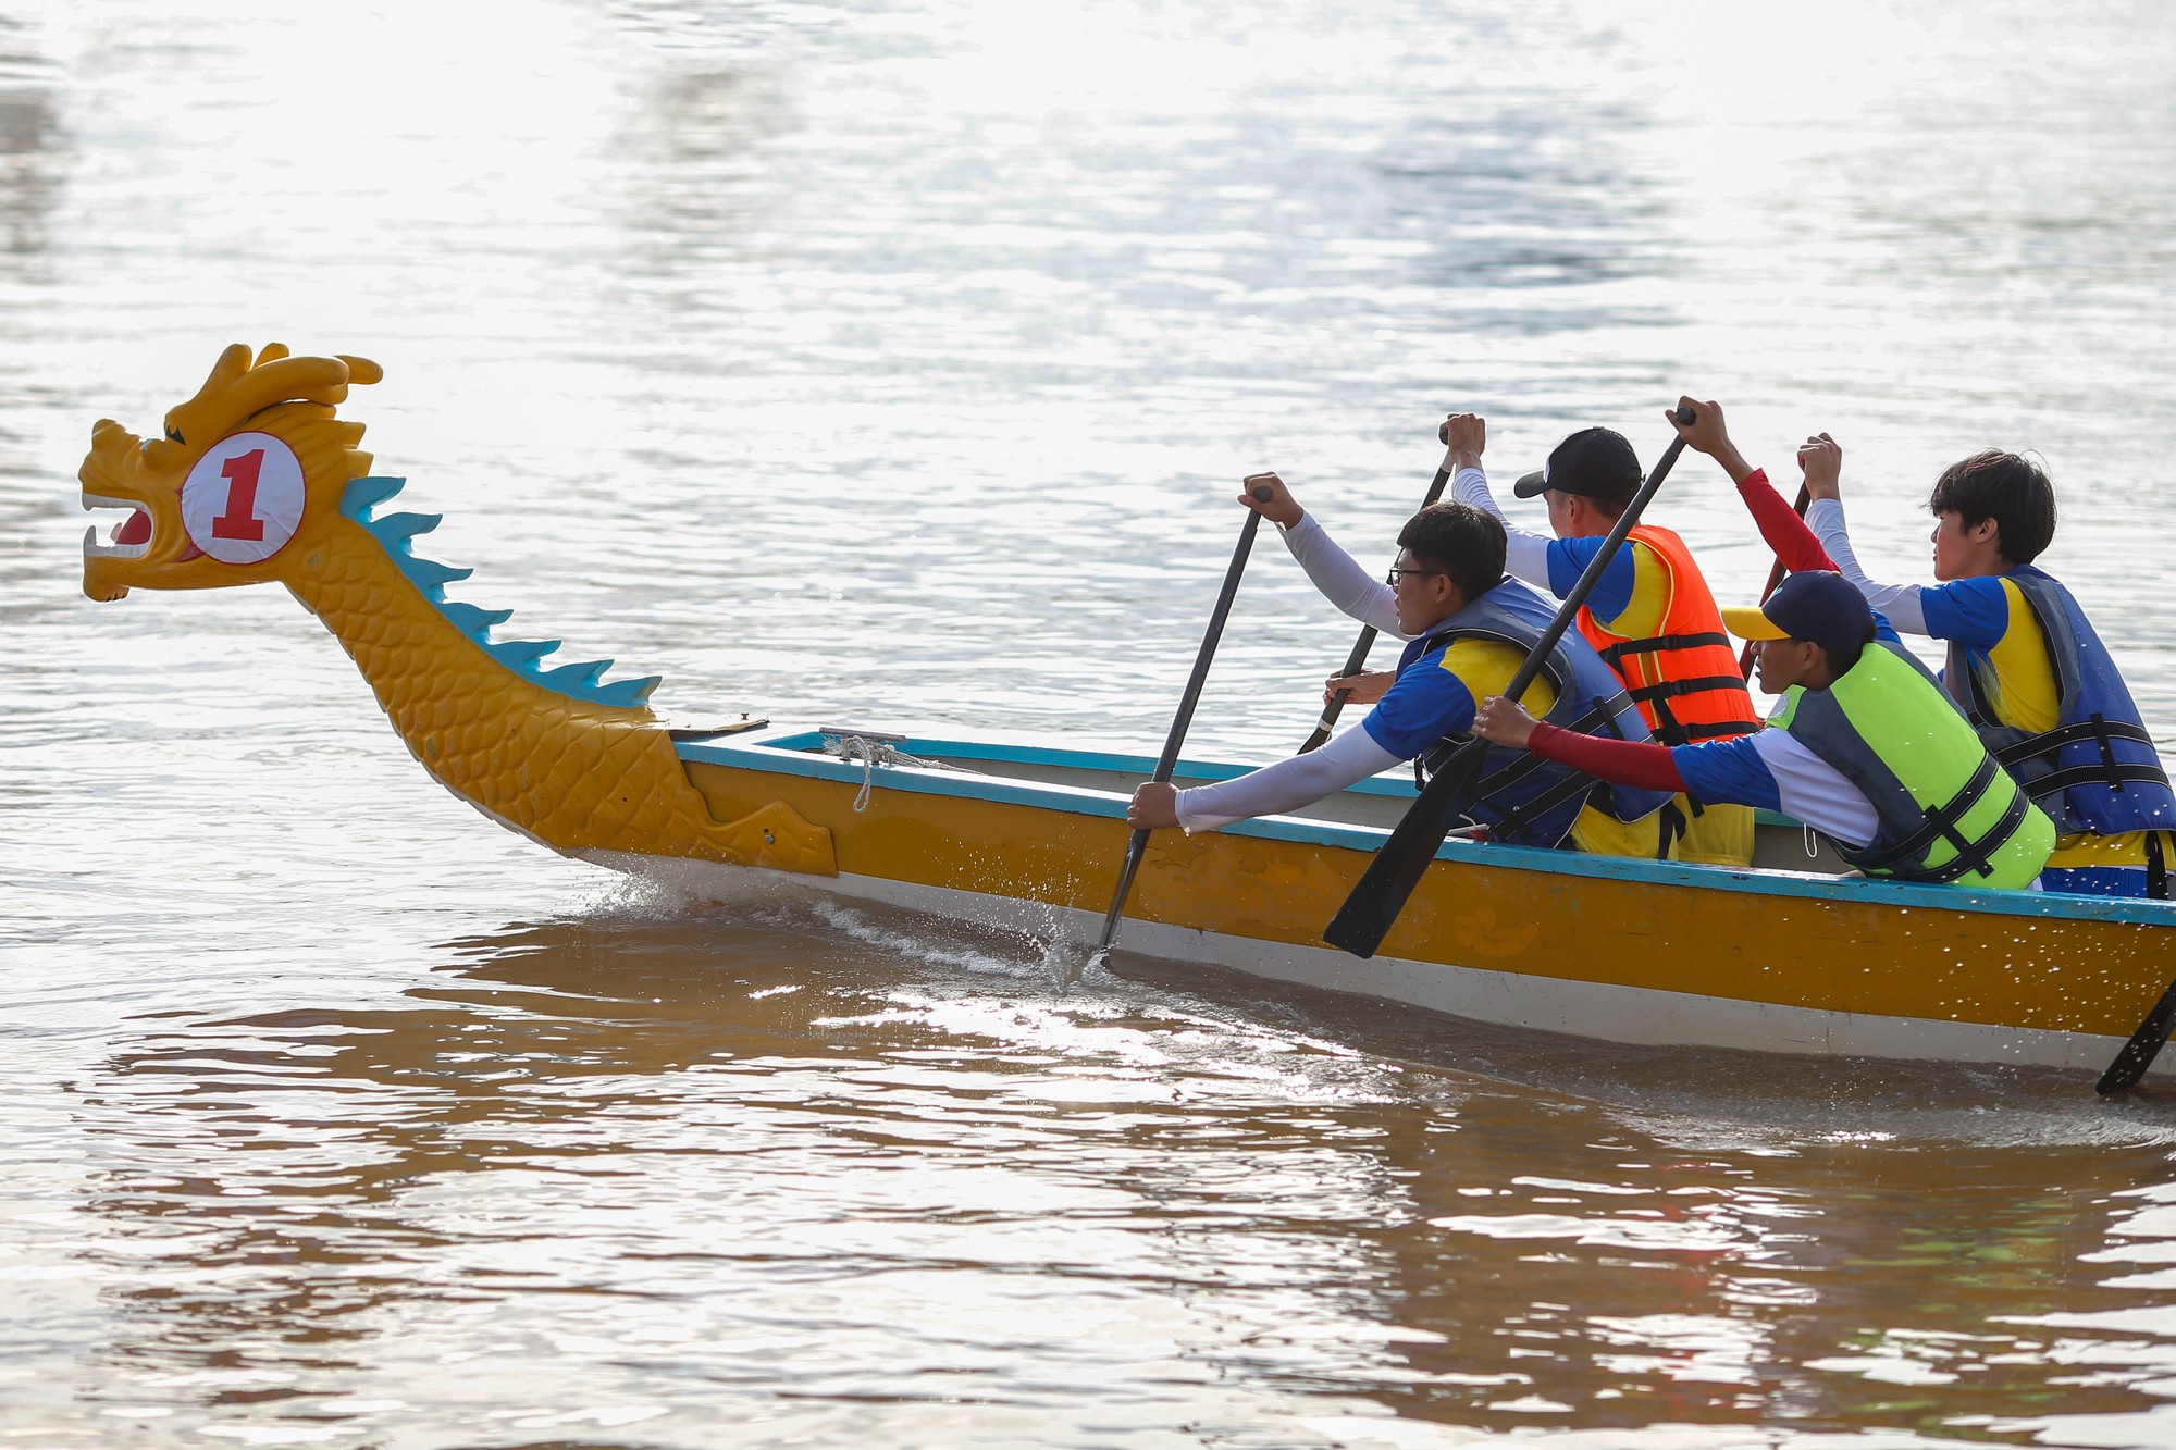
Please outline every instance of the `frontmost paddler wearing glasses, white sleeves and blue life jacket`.
M1266 488L1266 499L1256 490ZM1410 640L1395 681L1369 716L1319 751L1192 790L1149 782L1127 821L1138 830L1214 830L1299 810L1404 762L1441 760L1467 738L1473 703L1495 695L1541 640L1554 610L1504 575L1504 525L1464 503L1434 503L1399 531L1390 583L1351 560L1273 475L1247 479L1240 503L1277 525L1308 579L1340 610ZM1632 701L1593 647L1565 634L1525 701L1565 734L1588 729L1647 740ZM1441 753L1438 753L1441 751ZM1667 790L1602 786L1519 751L1488 751L1473 821L1517 845L1578 845L1610 856L1665 856Z

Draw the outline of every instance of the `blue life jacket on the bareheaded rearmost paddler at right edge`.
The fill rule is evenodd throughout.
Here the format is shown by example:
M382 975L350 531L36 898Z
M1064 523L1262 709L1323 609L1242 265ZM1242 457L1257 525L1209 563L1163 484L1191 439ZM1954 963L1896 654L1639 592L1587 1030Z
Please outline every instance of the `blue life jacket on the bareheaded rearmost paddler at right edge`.
M2176 795L2154 738L2146 734L2130 688L2085 610L2067 588L2030 564L2019 564L2004 579L2026 597L2048 636L2061 714L2054 729L2039 734L1998 725L1980 679L1993 666L1978 651L1952 642L1943 686L1980 742L2065 836L2176 827Z

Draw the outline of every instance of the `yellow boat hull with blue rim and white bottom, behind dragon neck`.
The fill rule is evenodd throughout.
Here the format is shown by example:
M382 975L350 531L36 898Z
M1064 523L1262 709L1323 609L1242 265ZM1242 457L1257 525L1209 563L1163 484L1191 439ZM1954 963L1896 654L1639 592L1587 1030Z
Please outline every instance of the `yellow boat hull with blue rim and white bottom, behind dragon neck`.
M831 832L838 875L792 880L994 925L1095 932L1127 840L1127 779L1147 762L907 745L1042 775L966 777L864 769L818 747L820 736L799 734L683 755L720 819L783 801ZM1068 784L1099 777L1112 788ZM1373 782L1345 814L1388 823L1401 803L1395 784ZM1299 816L1158 832L1121 945L1621 1043L2080 1069L2102 1067L2176 973L2176 910L2163 904L1464 840L1445 843L1382 954L1360 960L1323 947L1321 927L1382 838L1384 825ZM662 858L607 864L720 895L749 875Z

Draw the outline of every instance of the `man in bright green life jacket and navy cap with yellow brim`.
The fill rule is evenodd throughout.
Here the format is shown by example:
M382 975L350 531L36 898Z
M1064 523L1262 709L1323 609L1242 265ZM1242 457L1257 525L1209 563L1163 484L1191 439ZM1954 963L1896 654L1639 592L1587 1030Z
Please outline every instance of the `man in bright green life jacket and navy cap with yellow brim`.
M1623 786L1780 810L1867 875L2035 884L2054 825L1843 575L1791 575L1723 623L1758 640L1760 688L1782 695L1767 729L1680 747L1593 740L1495 697L1473 734Z

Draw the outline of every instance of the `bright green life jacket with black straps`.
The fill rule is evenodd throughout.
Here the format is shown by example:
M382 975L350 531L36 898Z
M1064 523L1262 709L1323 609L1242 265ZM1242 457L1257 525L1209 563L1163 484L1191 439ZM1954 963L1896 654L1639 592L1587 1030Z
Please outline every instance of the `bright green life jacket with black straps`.
M2054 823L1902 644L1869 640L1826 690L1791 686L1771 723L1874 806L1874 840L1839 847L1867 875L2022 888L2054 851Z

